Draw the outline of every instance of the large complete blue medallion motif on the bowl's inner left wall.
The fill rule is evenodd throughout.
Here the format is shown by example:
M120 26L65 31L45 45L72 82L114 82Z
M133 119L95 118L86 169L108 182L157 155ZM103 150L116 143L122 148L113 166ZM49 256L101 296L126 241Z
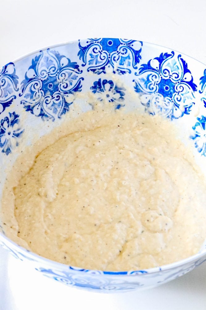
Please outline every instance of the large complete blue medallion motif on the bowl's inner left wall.
M81 91L81 73L78 64L64 55L49 49L40 51L21 83L21 103L43 120L61 118L69 111L73 94Z

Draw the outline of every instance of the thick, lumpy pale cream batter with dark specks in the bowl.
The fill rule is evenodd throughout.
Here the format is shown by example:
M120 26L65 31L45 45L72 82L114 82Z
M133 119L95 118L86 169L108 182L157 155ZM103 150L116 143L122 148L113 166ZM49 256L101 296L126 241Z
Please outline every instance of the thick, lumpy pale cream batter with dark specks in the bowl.
M197 253L206 187L190 152L168 121L115 114L95 122L89 112L28 162L10 189L19 240L49 259L101 270Z

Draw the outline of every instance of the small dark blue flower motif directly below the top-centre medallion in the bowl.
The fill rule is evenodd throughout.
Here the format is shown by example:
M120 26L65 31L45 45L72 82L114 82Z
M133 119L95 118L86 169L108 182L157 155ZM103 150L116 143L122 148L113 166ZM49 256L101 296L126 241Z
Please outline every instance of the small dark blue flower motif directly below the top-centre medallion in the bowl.
M124 106L124 95L125 88L118 87L112 80L101 80L95 81L93 86L90 87L93 94L97 96L100 101L113 102L115 109L119 109Z

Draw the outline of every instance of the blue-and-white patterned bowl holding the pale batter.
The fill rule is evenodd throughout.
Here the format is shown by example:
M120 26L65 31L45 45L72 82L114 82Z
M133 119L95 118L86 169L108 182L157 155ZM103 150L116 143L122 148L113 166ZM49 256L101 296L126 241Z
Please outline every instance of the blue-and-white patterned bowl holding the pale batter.
M129 95L131 90L137 94L135 102ZM88 91L97 100L105 97L114 109L124 106L167 117L178 126L180 135L187 132L197 162L201 167L205 165L206 65L177 51L135 40L79 40L38 51L0 69L0 195L6 171L22 143L29 145L32 135L42 137L59 126L70 106L74 106L74 93ZM82 113L91 108L81 100L75 106ZM157 286L206 260L203 245L194 256L147 270L105 272L76 268L18 246L6 237L1 219L0 244L47 277L103 292Z

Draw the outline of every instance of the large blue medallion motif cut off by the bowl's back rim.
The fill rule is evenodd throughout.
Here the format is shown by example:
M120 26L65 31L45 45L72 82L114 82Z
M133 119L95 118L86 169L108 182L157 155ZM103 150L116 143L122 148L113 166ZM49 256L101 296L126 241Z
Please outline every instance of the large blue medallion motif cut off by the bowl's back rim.
M131 73L131 69L137 69L141 60L142 42L116 38L79 40L78 56L82 60L82 66L87 65L87 71L94 73Z

